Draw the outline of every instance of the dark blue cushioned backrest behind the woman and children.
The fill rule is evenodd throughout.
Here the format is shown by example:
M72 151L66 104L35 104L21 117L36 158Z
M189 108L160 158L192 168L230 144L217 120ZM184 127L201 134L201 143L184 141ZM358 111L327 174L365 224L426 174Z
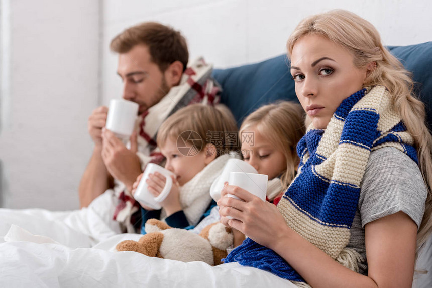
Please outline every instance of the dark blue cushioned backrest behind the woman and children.
M388 47L413 73L415 92L426 104L427 122L432 127L432 42ZM233 112L238 125L262 105L276 100L298 102L286 55L263 62L228 69L215 69L213 77L222 85L221 102Z

